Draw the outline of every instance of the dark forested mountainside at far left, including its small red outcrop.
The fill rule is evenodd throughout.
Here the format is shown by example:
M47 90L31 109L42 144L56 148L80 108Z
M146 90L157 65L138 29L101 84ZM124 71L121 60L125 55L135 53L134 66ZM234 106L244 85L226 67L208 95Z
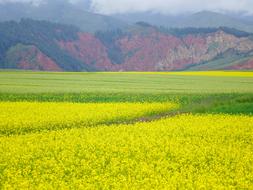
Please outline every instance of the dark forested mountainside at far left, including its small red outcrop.
M0 67L56 71L95 70L61 50L56 43L60 40L77 40L78 32L79 29L75 27L47 21L22 19L19 23L0 23Z

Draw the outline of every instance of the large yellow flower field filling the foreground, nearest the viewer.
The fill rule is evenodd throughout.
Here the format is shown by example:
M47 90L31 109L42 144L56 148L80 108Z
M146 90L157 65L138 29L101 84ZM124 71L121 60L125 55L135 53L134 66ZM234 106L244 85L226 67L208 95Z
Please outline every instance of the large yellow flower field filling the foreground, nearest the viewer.
M0 138L0 188L252 189L252 155L244 115L44 131Z

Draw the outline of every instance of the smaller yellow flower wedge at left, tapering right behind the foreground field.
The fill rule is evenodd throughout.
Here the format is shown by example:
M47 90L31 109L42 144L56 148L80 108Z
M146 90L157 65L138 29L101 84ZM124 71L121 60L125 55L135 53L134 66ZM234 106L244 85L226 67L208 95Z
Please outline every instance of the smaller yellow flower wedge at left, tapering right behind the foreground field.
M174 103L0 102L0 136L124 122L176 108Z

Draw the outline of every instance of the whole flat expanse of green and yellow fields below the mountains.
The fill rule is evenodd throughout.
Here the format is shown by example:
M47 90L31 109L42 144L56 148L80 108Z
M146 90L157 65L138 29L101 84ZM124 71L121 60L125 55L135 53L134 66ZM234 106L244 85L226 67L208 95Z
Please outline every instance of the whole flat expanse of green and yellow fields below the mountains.
M0 71L0 189L252 189L253 72Z

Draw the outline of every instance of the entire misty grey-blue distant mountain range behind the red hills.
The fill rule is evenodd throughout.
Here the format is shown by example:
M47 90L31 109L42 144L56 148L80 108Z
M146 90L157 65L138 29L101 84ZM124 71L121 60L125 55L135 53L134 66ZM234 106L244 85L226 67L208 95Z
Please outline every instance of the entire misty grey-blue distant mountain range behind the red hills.
M230 27L253 32L252 16L247 12L239 14L231 11L226 13L201 11L165 14L150 10L103 15L94 12L102 12L102 7L99 5L107 6L94 0L2 1L0 3L0 21L19 21L21 18L47 20L74 25L82 31L91 33L98 30L125 28L140 21L167 28Z

